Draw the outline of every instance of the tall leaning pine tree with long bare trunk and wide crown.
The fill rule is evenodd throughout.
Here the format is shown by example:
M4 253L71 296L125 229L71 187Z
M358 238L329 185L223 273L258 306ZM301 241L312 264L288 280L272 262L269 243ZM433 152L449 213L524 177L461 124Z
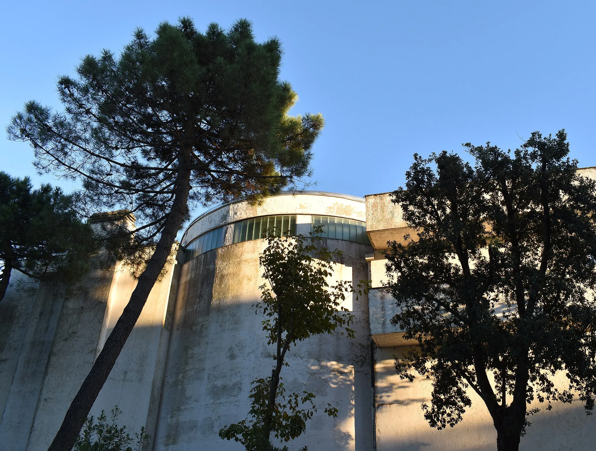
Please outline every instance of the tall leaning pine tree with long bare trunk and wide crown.
M296 94L279 79L281 57L280 42L255 42L247 20L200 33L181 18L160 24L152 38L136 30L119 57L83 58L76 78L58 81L63 112L29 102L13 118L9 136L32 145L39 170L80 179L95 211L134 214L135 228L116 229L125 255L144 260L52 451L75 443L190 206L257 201L309 174L323 119L288 116Z

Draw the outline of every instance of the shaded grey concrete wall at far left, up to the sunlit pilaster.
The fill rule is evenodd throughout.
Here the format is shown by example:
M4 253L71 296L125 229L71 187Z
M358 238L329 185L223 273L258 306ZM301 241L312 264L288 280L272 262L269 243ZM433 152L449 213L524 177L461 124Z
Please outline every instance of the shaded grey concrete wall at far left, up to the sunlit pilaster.
M8 450L47 449L94 360L111 271L92 270L82 290L66 299L44 287L20 291L19 278L14 271L10 296L0 303L0 318L13 317L10 328L0 329L8 357L0 359L0 393L8 391L0 443Z

